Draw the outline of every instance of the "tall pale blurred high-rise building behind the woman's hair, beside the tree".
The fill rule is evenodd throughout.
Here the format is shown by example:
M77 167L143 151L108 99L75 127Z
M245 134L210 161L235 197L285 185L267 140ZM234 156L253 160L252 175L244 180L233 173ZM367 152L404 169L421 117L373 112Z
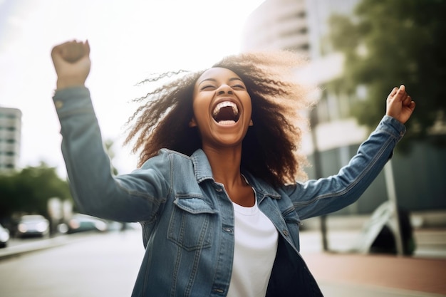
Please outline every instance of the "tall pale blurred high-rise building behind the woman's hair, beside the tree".
M354 145L366 136L365 129L350 118L354 98L324 86L343 73L343 55L331 51L328 19L333 13L352 14L358 0L266 0L254 10L244 28L242 51L284 49L309 59L305 68L296 69L296 79L323 87L317 114L319 150ZM304 142L311 154L311 141ZM342 150L341 150L342 151ZM348 157L341 156L345 162Z

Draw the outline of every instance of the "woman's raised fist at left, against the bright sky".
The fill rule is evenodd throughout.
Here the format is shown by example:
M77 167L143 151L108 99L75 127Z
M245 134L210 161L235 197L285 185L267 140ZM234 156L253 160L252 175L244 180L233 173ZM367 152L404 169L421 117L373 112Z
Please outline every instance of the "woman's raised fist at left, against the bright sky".
M85 85L90 73L90 45L88 41L67 41L51 51L57 74L58 90Z

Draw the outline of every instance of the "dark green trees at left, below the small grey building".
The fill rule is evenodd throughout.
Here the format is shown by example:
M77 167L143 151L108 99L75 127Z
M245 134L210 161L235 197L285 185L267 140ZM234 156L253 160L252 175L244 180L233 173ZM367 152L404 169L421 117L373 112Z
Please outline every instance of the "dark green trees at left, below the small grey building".
M44 163L16 174L0 175L0 218L21 212L47 215L48 199L52 197L72 199L68 182Z

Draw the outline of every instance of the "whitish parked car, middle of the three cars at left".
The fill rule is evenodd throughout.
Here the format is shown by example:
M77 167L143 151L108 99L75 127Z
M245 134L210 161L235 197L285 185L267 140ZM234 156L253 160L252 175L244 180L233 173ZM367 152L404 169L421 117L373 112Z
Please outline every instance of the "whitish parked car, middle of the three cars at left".
M16 228L16 237L48 236L50 222L40 214L26 214L19 219Z

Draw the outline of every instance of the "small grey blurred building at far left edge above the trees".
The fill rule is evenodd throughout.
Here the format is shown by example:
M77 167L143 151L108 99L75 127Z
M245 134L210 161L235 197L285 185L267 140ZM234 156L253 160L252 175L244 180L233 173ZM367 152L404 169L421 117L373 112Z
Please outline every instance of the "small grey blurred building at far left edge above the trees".
M19 167L21 143L21 111L0 107L0 174Z

